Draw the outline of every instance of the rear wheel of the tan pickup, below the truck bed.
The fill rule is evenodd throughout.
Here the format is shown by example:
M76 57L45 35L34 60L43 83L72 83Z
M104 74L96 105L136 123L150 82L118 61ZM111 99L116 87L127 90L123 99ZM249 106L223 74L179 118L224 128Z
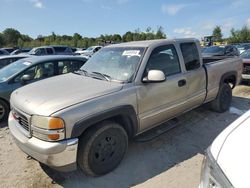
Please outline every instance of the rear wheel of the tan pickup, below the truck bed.
M226 112L232 102L232 88L229 84L221 85L218 95L215 100L211 102L211 109L223 113Z

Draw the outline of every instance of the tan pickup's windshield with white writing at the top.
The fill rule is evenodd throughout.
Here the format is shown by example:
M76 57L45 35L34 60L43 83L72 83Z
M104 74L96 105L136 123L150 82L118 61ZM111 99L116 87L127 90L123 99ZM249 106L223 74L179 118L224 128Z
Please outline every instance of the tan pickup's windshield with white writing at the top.
M81 70L99 72L110 77L110 80L131 81L142 58L145 48L103 48L91 57Z

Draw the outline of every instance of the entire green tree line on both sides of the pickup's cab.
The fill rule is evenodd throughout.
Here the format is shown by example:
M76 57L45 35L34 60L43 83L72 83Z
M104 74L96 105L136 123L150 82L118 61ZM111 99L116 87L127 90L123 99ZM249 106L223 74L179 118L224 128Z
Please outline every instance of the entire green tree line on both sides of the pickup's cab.
M220 26L216 26L213 29L212 35L217 42L228 43L246 43L250 42L250 28L243 26L241 29L231 29L230 36L223 38L222 30ZM79 33L75 33L73 36L58 35L52 32L51 35L32 38L29 35L20 33L17 29L7 28L2 33L0 32L0 47L36 47L44 45L67 45L72 47L87 48L93 45L101 45L106 41L120 43L139 40L152 40L152 39L166 39L167 36L164 33L163 27L158 27L154 31L151 27L148 27L145 31L136 29L135 31L128 31L124 35L100 35L99 37L84 37Z

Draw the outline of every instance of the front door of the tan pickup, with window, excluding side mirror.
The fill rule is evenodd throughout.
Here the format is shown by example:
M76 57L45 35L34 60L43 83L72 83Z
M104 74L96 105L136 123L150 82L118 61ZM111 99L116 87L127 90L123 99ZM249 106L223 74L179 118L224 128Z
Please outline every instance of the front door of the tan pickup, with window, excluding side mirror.
M183 112L186 99L186 77L183 76L179 57L174 45L155 48L147 62L144 77L149 70L161 70L164 82L143 83L137 90L140 130L160 124Z

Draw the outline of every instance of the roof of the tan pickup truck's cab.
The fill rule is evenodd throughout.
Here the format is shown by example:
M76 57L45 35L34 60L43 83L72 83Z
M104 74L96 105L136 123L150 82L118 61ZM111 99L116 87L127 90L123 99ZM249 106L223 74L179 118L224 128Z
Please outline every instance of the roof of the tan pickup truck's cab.
M157 40L145 40L145 41L133 41L133 42L124 42L119 44L112 44L105 48L112 48L112 47L149 47L151 45L160 44L163 42L193 42L198 41L195 38L179 38L179 39L157 39Z

